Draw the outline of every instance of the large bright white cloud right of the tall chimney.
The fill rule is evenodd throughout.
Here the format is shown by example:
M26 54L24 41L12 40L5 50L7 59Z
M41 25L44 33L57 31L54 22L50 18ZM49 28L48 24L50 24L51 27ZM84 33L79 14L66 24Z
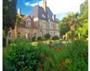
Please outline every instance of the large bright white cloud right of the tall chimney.
M80 4L85 0L48 0L47 5L54 14L78 12Z

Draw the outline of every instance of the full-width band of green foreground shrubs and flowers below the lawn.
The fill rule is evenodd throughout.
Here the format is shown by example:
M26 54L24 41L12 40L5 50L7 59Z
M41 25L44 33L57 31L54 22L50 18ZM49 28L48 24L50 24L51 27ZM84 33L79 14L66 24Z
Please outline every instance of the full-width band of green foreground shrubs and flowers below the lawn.
M87 71L88 43L39 42L33 46L26 39L16 39L4 48L4 71Z

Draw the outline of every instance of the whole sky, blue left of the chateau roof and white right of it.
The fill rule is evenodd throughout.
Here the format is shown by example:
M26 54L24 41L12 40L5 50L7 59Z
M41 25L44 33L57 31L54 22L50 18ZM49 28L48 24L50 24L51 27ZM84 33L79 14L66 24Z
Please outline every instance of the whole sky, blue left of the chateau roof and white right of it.
M58 19L62 19L69 12L80 12L80 4L85 0L47 0L47 6L56 15ZM21 9L21 13L29 15L35 5L42 6L42 0L17 0L17 9Z

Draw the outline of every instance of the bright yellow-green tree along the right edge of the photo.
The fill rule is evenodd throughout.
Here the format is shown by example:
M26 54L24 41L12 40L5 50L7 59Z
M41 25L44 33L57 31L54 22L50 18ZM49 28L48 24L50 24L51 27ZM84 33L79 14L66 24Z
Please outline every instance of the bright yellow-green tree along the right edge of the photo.
M79 25L76 33L80 38L88 38L88 0L80 6Z

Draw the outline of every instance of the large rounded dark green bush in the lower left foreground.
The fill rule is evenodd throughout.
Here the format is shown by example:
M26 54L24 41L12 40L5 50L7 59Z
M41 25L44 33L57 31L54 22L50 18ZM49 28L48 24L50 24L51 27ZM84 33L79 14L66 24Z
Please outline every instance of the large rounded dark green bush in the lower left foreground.
M36 71L40 52L28 40L17 39L4 49L4 71Z

